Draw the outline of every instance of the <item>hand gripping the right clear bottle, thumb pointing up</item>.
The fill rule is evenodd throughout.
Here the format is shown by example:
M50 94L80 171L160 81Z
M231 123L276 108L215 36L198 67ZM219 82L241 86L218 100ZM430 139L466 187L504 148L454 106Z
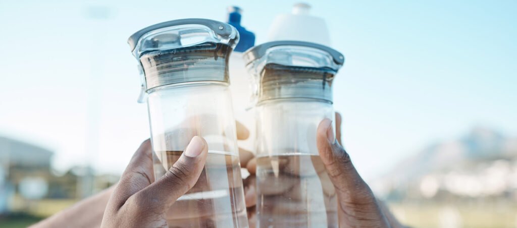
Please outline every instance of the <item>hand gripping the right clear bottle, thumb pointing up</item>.
M317 146L338 197L339 227L404 227L389 209L377 201L370 187L357 173L349 155L341 146L341 115L336 113L336 135L330 119L317 128ZM246 162L252 174L245 180L245 199L250 227L255 227L256 159Z

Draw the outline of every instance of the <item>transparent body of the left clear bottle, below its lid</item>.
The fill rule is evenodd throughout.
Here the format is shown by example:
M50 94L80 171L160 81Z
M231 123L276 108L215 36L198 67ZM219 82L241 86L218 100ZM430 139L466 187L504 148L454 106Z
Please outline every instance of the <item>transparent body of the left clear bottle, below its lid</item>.
M160 87L148 96L155 178L179 158L193 136L208 143L197 183L171 207L171 227L247 227L235 120L224 83Z

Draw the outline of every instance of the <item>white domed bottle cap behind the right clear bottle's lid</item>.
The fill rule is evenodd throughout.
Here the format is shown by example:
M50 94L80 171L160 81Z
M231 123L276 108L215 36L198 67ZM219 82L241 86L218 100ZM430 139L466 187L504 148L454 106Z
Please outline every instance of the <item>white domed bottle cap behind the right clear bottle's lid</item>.
M269 28L268 41L298 40L330 46L325 20L310 15L311 6L298 3L290 14L280 14Z

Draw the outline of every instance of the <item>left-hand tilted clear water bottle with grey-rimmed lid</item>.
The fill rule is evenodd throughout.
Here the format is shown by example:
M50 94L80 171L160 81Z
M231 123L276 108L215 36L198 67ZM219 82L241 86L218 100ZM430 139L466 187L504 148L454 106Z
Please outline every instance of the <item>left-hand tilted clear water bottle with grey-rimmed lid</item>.
M199 180L167 214L171 227L248 227L228 88L228 59L237 42L234 27L206 19L163 22L128 40L141 69L155 178L193 136L208 143Z

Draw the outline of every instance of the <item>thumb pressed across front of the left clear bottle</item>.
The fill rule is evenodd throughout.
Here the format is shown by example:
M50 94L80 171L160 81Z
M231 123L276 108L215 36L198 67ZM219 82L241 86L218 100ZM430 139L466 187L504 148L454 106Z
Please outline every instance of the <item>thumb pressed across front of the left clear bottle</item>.
M195 185L204 168L208 145L194 136L179 159L165 175L134 195L139 207L169 208L181 195Z

